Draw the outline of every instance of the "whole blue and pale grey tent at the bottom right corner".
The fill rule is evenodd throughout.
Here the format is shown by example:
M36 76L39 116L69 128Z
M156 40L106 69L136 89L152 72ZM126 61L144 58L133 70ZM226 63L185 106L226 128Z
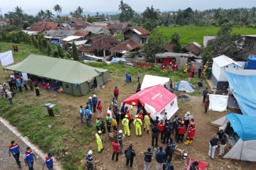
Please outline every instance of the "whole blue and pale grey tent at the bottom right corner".
M232 127L233 131L240 137L224 158L256 162L255 122L255 117L235 113L229 113L213 122L215 125L222 126L225 133L228 133L227 130Z

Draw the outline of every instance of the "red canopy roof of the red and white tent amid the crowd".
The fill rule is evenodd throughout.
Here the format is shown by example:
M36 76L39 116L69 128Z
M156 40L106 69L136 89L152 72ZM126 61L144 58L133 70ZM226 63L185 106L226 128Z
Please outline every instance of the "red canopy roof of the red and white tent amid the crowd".
M175 94L171 93L171 91L165 89L164 86L159 84L137 92L122 101L122 103L132 105L132 102L134 102L136 103L135 106L138 106L138 103L142 103L142 106L152 106L156 113L159 113L159 111L161 111L161 109L174 98L176 98Z

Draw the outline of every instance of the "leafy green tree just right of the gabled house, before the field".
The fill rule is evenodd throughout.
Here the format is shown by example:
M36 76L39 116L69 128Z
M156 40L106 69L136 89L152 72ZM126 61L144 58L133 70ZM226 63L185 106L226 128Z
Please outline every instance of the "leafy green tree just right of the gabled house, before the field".
M155 62L155 55L164 52L164 40L166 37L158 30L151 32L148 42L142 45L142 51L146 54L146 62Z

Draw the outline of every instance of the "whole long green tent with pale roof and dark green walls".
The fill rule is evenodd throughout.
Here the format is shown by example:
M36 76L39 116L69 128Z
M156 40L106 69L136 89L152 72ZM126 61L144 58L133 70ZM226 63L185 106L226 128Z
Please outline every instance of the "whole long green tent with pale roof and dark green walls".
M63 92L82 96L89 92L94 79L101 86L108 80L108 70L90 67L77 61L63 60L41 55L29 55L22 62L5 67L16 72L26 72L38 77L63 82ZM77 84L77 86L75 86Z

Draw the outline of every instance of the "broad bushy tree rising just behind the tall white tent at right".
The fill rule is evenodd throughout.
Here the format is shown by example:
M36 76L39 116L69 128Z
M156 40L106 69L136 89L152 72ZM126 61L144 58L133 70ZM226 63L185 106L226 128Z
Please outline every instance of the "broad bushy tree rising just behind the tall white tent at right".
M207 47L203 48L203 61L211 61L214 57L220 55L226 55L228 57L234 57L235 52L242 47L243 39L241 35L231 34L232 29L230 24L224 23L220 30L218 30L217 36L213 40L209 40Z

